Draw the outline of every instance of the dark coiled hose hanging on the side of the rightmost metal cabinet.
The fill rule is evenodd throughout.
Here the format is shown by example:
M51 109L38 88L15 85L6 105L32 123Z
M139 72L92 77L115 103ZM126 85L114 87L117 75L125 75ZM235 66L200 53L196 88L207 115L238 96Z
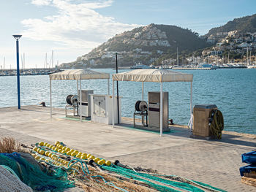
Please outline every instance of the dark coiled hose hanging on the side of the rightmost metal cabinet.
M224 129L224 119L222 112L219 110L212 110L210 113L209 126L211 134L217 139L222 139L222 131Z

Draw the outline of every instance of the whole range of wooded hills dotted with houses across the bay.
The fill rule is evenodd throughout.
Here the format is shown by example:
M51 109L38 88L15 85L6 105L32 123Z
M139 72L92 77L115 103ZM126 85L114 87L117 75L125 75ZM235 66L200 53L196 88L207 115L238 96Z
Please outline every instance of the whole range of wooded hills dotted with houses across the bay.
M61 64L61 67L114 67L116 53L119 66L132 66L136 63L158 65L162 61L173 61L175 64L177 47L180 59L188 56L200 57L202 53L210 53L212 49L219 50L219 53L236 52L241 56L244 54L241 46L245 46L240 45L241 42L249 43L247 47L254 53L255 32L256 14L236 18L224 26L211 28L202 37L188 28L150 24L117 34L90 53L78 57L71 63ZM217 42L223 45L214 47Z

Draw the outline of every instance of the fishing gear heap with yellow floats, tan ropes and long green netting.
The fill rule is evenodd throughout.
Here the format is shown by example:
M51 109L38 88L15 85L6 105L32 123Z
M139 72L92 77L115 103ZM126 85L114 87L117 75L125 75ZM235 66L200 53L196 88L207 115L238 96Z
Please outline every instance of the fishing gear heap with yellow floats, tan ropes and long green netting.
M50 145L37 143L31 150L42 165L61 168L69 180L85 191L222 191L211 185L175 175L155 174L146 169L122 165L118 161L106 161L94 155L71 149L62 142Z

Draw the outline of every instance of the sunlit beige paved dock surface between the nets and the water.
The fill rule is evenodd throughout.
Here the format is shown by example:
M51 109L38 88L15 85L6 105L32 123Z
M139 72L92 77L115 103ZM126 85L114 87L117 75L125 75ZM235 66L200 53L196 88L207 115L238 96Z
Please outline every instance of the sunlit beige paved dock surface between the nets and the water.
M127 119L124 119L127 121ZM127 123L127 122L126 122ZM108 126L64 118L64 110L26 106L0 108L0 137L14 137L30 145L35 142L64 142L74 149L123 164L157 169L208 183L226 191L256 191L241 183L241 154L256 150L256 135L225 131L220 141L189 138L185 128L172 128L159 137L150 131Z

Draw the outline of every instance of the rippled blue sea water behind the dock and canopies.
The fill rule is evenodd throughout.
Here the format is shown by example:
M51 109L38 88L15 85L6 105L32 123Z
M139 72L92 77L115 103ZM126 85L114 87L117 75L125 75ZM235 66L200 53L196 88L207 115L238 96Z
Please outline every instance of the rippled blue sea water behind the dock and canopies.
M113 69L94 69L115 73ZM120 70L119 72L124 72ZM193 104L216 104L222 111L225 130L256 134L256 69L189 70L194 74ZM112 93L110 80L110 93ZM118 82L121 115L132 118L135 102L141 100L141 82ZM75 80L53 80L53 107L64 108L66 97L77 93ZM108 93L107 80L83 80L83 89L94 93ZM49 77L21 76L21 105L49 106ZM159 83L145 82L144 97L148 91L159 91ZM169 92L169 118L186 125L189 121L190 82L164 82L163 91ZM0 107L17 106L16 77L0 77Z

